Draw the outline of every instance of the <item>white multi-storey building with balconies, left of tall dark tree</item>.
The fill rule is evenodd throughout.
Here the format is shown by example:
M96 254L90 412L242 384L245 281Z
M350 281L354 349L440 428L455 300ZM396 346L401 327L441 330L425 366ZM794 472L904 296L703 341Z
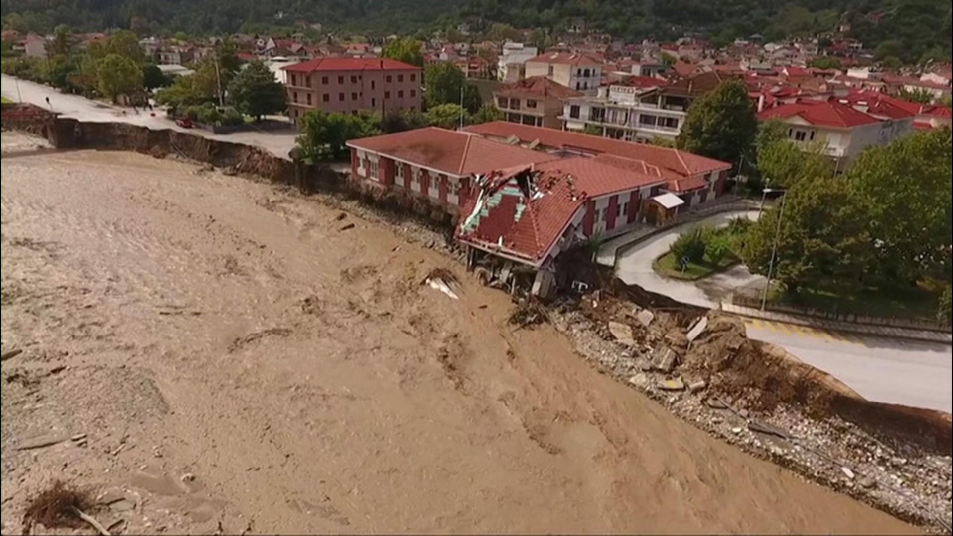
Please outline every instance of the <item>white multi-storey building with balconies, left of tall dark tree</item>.
M675 139L692 102L726 78L719 72L703 72L672 83L635 77L627 85L600 90L595 97L566 99L560 119L567 131L580 132L590 126L601 135L626 141Z

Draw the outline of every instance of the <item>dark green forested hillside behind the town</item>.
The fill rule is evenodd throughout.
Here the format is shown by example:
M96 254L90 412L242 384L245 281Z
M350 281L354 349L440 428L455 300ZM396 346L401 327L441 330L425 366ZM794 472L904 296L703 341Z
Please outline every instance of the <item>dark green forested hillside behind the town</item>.
M686 31L718 41L760 33L767 39L834 30L875 47L900 39L911 56L950 50L950 3L943 0L3 0L5 28L232 32L297 21L383 35L455 27L461 21L517 28L588 28L630 40L672 39ZM133 28L136 30L136 28Z

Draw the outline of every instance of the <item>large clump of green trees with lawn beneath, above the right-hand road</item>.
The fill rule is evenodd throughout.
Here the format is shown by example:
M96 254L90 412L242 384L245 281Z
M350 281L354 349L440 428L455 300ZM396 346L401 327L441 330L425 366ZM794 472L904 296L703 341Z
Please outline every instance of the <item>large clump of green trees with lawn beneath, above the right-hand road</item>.
M934 318L950 282L951 156L949 129L937 129L866 149L845 176L802 176L741 258L767 275L777 240L784 302Z

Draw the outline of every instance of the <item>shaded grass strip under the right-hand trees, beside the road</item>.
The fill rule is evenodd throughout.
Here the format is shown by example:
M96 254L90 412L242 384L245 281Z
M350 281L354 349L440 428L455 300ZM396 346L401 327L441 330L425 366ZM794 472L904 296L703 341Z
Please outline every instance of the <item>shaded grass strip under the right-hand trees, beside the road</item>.
M781 295L776 302L870 317L936 320L942 292L940 285L929 281L901 289L862 291L844 291L824 285L801 289L797 295Z

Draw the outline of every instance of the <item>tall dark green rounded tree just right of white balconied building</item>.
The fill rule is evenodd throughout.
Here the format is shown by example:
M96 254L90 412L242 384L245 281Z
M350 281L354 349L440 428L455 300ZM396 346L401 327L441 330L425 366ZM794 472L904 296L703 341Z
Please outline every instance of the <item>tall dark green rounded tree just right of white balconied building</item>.
M749 153L757 134L758 118L744 82L729 80L692 103L676 146L734 164Z

